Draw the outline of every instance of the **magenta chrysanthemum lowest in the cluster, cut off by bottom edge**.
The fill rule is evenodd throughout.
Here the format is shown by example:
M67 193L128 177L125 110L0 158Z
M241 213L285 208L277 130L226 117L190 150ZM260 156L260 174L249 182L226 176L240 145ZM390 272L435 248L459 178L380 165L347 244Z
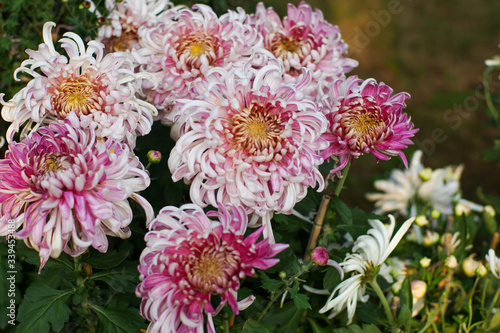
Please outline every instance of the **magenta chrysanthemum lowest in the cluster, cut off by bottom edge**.
M136 289L148 332L203 332L203 314L207 331L215 332L212 315L222 306L238 314L240 280L275 265L271 258L288 247L257 243L262 228L244 238L246 227L245 209L233 205L207 214L193 204L160 211L145 237ZM217 309L212 295L221 297Z

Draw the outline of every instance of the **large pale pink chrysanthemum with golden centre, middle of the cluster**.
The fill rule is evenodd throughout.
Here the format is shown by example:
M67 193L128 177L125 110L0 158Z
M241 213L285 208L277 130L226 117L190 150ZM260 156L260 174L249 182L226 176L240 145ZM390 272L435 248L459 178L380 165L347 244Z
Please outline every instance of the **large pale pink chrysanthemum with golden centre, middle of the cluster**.
M299 86L282 81L283 68L268 65L214 70L193 86L200 100L179 100L183 128L168 166L174 181L191 183L191 200L243 205L272 237L273 212L290 214L309 186L324 186L318 170L327 121ZM310 79L310 78L309 78Z

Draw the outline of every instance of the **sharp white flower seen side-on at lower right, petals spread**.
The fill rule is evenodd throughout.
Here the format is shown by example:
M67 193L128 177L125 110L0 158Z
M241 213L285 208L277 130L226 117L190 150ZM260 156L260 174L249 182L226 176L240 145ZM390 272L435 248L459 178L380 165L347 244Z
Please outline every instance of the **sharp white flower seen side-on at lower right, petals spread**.
M319 310L320 313L332 310L329 316L332 318L347 308L348 324L350 324L357 302L368 301L370 296L365 294L366 284L377 278L384 261L414 221L414 218L408 219L392 237L396 220L392 215L389 215L389 219L391 223L387 228L378 220L369 221L373 229L368 230L368 235L358 237L352 249L357 253L347 254L344 262L340 264L345 274L353 275L333 290L325 306Z

